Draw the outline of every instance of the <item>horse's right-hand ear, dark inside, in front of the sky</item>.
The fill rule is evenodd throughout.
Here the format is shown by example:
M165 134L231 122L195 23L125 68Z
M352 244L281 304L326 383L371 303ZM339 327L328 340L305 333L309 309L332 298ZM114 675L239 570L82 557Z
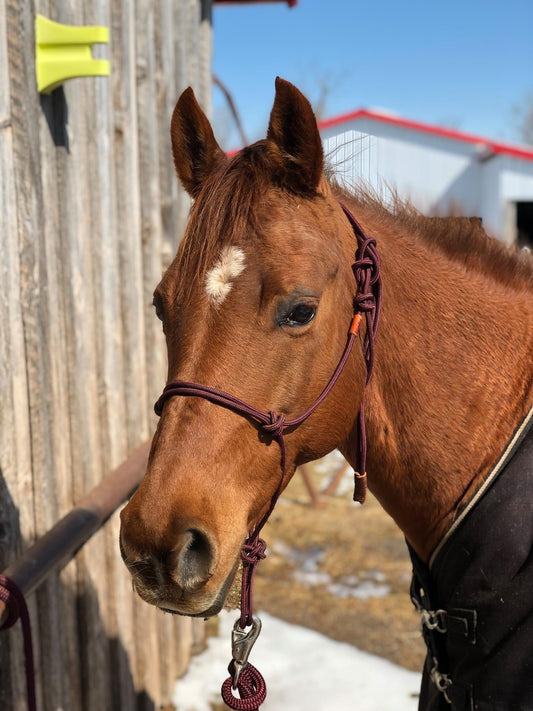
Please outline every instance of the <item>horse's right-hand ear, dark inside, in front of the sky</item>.
M276 77L276 97L267 139L284 157L287 187L315 192L324 167L324 152L311 104L288 81Z

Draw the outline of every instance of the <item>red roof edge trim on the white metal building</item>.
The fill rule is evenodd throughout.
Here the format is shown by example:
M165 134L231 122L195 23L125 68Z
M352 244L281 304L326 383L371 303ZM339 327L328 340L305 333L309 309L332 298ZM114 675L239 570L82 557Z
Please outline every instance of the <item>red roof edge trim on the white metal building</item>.
M442 138L450 138L454 141L473 143L486 148L491 154L508 155L512 158L522 158L523 160L533 161L533 148L528 148L527 146L514 146L509 143L502 143L501 141L493 141L490 138L482 138L481 136L475 136L470 133L463 133L463 131L456 131L451 128L442 128L441 126L432 126L430 124L422 123L421 121L411 121L409 119L403 119L390 114L381 113L379 111L371 111L369 109L358 109L357 111L342 114L341 116L325 119L324 121L319 122L318 127L320 130L323 130L334 126L341 126L343 123L351 123L352 121L357 121L358 119L371 119L373 121L380 121L382 123L400 126L401 128L410 129L412 131L430 133L434 136L440 136Z

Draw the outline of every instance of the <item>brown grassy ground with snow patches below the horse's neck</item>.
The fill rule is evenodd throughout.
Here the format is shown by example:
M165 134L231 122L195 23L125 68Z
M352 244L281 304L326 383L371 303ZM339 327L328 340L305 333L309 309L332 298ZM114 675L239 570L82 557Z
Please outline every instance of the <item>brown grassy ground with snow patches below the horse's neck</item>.
M343 461L334 453L308 465L317 491ZM363 506L352 501L351 482L350 470L313 508L296 472L262 534L269 552L258 567L254 606L421 670L424 646L403 535L371 494Z

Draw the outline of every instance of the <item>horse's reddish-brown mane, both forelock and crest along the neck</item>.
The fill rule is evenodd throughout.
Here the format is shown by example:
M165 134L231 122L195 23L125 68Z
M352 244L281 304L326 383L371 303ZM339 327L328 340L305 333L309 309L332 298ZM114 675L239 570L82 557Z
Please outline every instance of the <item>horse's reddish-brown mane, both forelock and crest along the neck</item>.
M280 155L269 141L248 146L225 161L206 180L191 208L191 220L180 246L180 269L203 275L235 235L246 240L258 227L258 212L269 187L278 185ZM371 213L384 229L411 236L468 271L516 290L533 290L533 258L515 247L490 237L479 218L428 217L397 195L386 205L369 189L347 190L332 171L326 177L335 195L356 210ZM216 199L212 196L216 195ZM209 235L209 237L208 237ZM376 235L379 240L379 235Z

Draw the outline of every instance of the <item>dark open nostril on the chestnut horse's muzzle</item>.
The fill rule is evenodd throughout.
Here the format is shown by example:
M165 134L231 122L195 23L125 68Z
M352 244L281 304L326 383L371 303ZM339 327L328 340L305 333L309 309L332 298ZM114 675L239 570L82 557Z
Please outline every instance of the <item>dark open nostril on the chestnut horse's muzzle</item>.
M190 528L181 536L179 545L170 554L168 567L184 590L201 587L213 574L214 546L208 536Z

